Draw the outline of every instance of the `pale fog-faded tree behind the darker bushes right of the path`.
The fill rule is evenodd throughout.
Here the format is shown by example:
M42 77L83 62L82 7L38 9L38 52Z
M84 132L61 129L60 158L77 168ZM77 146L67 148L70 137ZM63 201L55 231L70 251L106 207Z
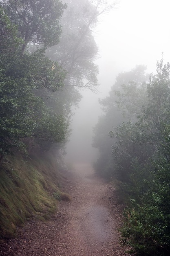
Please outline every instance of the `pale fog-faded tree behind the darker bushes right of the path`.
M144 81L147 81L148 75L145 70L145 66L139 65L129 72L120 73L109 96L99 100L104 114L94 128L93 146L99 149L99 159L95 169L107 178L113 177L116 170L115 161L111 155L112 145L115 144L116 139L113 136L110 139L109 132L122 121L126 122L128 117L131 121L136 120L137 115L142 112L147 99ZM126 136L124 137L126 139Z

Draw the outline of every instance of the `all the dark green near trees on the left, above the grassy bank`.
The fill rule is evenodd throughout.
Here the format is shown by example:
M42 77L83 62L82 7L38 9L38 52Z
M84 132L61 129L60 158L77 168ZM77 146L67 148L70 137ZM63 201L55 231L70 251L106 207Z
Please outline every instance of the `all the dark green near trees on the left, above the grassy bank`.
M44 9L44 5L40 5L42 2L33 4L31 1L28 6L26 6L26 2L9 0L0 6L2 38L0 45L1 158L12 153L13 148L22 148L23 150L28 138L35 139L36 143L60 142L64 140L67 129L64 117L51 110L44 103L42 97L35 94L35 91L41 88L49 91L60 89L64 82L64 71L57 63L46 58L44 51L48 44L45 42L45 36L42 35L42 24L38 25L37 20L33 20L35 15L31 15L38 8L37 19L40 20L40 23L43 23L46 29L48 29L47 25L51 28L51 24L53 24L52 29L60 30L58 22L65 7L56 1L57 9L58 5L61 5L57 17L54 17L54 21L57 20L57 22L53 23L51 20L51 24L45 24L48 21L41 21ZM53 9L52 6L51 9ZM50 11L46 10L46 15ZM29 15L29 13L31 14ZM29 27L24 19L27 20ZM57 43L59 36L60 33L53 38L51 33L49 45L53 40ZM29 51L26 51L26 45L29 41L37 41L37 37L41 38L44 46L30 54ZM53 68L54 66L55 68Z

